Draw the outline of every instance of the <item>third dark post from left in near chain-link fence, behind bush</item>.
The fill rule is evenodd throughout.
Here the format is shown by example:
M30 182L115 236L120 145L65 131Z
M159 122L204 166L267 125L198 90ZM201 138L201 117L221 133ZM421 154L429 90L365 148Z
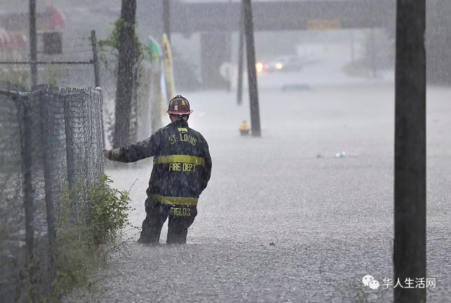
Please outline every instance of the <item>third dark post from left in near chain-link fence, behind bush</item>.
M76 177L75 177L75 159L73 154L73 134L70 128L70 98L72 95L71 89L61 91L64 102L64 129L66 133L66 165L68 168L68 190L70 197L70 208L73 223L78 223L79 210L78 210L78 194L76 189Z

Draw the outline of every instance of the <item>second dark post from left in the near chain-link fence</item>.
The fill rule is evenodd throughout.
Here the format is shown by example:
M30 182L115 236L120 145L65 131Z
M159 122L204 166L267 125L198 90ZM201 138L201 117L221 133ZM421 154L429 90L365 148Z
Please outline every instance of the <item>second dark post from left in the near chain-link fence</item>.
M54 210L54 197L51 192L51 171L50 160L51 151L49 150L49 118L47 110L47 89L42 89L39 92L39 113L41 120L41 133L42 133L42 156L44 160L44 192L45 192L45 204L47 209L47 228L49 237L49 270L51 282L55 278L55 261L56 261L56 223L55 223L55 210Z

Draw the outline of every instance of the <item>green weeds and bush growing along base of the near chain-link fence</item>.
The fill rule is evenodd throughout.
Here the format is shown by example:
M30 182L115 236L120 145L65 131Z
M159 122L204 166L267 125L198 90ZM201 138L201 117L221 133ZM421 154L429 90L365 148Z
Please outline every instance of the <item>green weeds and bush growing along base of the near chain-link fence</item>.
M47 268L39 263L42 256L38 256L20 269L17 298L25 296L25 302L56 303L75 289L85 289L91 293L97 289L93 271L105 266L111 254L121 251L124 228L131 226L128 221L128 211L131 210L129 191L114 189L112 182L107 175L102 175L101 180L89 188L90 207L85 209L85 214L80 214L82 220L75 218L76 209L71 203L73 193L66 191L61 200L56 230L54 283L50 287L46 285ZM39 202L37 206L45 207L44 202ZM46 288L50 294L44 298L37 290Z

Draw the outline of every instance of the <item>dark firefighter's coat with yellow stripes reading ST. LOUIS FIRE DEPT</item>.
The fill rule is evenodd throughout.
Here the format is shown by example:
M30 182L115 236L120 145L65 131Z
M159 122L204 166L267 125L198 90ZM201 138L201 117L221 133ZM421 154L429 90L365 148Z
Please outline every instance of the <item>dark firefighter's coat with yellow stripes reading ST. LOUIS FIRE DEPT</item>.
M125 163L154 157L147 196L166 205L196 206L211 175L209 146L204 137L176 120L151 137L113 149L109 159Z

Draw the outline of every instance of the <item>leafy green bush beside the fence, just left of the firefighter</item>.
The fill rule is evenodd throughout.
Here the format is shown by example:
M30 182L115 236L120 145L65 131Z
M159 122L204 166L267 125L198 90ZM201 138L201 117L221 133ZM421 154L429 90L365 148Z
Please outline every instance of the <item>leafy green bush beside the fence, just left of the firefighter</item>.
M107 175L102 175L89 188L91 208L85 224L75 224L69 192L63 199L56 233L56 280L49 302L58 302L62 295L76 288L92 291L96 285L93 271L104 266L111 253L121 249L117 240L130 225L130 196L129 191L116 190L111 183Z

